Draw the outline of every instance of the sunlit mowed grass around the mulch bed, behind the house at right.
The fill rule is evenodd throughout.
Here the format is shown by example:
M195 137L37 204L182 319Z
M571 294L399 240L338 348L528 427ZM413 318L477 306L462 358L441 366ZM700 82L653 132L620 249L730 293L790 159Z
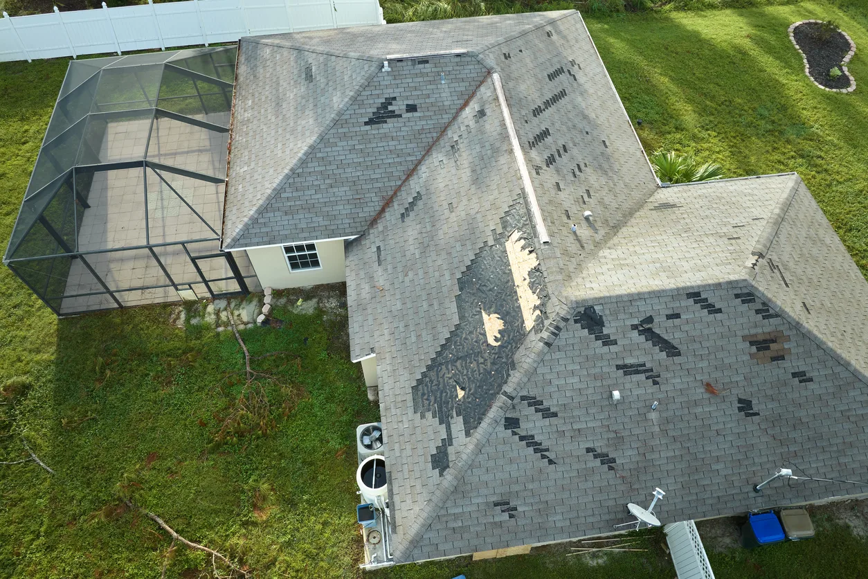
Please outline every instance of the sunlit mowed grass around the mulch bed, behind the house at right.
M650 154L694 153L727 176L796 171L868 275L868 3L588 18ZM818 89L786 34L834 20L856 43L849 95Z

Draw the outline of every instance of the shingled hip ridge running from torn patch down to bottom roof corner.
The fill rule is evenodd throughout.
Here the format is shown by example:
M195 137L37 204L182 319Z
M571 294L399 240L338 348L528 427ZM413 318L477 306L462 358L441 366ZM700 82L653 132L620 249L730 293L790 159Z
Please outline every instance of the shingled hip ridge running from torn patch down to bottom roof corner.
M454 495L458 483L461 482L464 474L470 469L471 464L473 464L473 459L482 451L483 445L500 426L501 420L512 406L512 401L522 391L528 379L533 376L537 366L540 365L542 359L549 352L550 342L549 345L546 345L545 338L552 332L551 328L556 326L558 322L565 323L569 321L573 310L575 310L573 302L568 303L558 299L557 306L549 318L549 324L546 325L546 329L540 332L540 334L534 332L533 335L529 333L525 337L522 347L513 356L513 360L516 362L516 370L510 373L510 378L507 379L500 394L496 396L489 410L485 413L482 422L464 443L460 454L451 462L450 468L446 470L444 476L440 479L440 483L431 492L424 507L419 510L418 516L413 520L411 528L398 539L398 543L393 550L396 562L407 563L409 561L408 557L411 555L413 548L422 539L428 527L431 526L439 510ZM547 334L546 331L549 333ZM557 333L559 332L560 330L557 331Z

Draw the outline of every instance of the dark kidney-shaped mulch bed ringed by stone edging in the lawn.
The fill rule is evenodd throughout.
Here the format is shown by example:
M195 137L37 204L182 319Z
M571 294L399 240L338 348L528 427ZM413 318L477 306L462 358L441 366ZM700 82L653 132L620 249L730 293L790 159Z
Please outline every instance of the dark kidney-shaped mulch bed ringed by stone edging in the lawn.
M845 63L845 57L852 49L850 39L836 30L824 42L818 37L821 26L821 23L806 22L799 23L792 30L793 41L805 56L808 76L826 89L849 89L852 77L842 63ZM833 67L838 67L843 74L837 78L829 76Z

